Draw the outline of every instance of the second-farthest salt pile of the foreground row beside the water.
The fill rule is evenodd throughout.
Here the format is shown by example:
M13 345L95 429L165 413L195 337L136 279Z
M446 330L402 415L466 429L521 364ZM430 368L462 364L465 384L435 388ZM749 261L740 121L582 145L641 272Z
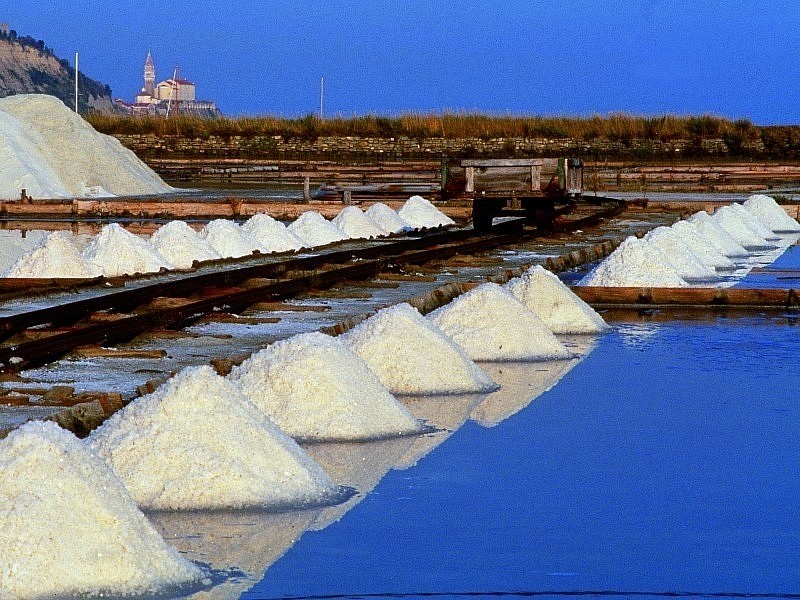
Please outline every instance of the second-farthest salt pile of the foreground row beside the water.
M572 358L536 313L508 290L484 283L428 317L472 360L535 361Z

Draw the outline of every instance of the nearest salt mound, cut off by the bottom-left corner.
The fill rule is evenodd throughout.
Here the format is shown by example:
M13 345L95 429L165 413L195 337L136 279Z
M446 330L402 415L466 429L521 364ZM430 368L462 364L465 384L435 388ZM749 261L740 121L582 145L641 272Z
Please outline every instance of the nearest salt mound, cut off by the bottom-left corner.
M1 441L0 473L0 597L152 595L201 581L108 466L55 423Z

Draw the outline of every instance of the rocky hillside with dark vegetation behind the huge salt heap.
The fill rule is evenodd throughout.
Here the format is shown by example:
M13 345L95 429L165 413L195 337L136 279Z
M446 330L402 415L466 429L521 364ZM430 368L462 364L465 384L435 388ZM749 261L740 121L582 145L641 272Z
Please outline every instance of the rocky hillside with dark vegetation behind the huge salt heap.
M111 89L78 75L81 111L110 110ZM72 108L75 104L75 69L59 59L41 40L0 31L0 98L14 94L50 94Z

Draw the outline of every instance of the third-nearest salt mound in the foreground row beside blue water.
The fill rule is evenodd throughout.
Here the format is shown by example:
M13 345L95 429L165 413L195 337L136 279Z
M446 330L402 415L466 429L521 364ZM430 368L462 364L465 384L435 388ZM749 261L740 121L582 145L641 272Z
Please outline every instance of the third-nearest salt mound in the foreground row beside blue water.
M275 342L229 378L295 438L357 440L421 431L363 360L319 332Z

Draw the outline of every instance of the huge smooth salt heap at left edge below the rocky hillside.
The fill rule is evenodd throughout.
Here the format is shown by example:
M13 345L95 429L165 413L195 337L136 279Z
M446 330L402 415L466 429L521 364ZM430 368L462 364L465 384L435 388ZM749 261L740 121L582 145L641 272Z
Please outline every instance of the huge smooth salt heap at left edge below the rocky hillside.
M122 146L95 131L61 100L40 94L0 98L0 197L83 197L174 191Z

